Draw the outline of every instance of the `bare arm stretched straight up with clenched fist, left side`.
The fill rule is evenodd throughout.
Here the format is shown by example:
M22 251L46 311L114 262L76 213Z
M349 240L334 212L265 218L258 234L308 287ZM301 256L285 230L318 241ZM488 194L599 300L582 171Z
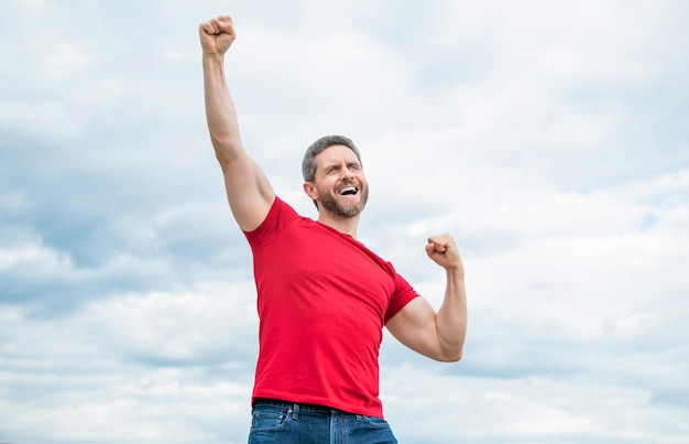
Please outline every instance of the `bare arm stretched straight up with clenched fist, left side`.
M240 228L261 225L275 193L259 165L247 154L239 133L234 102L225 75L225 53L234 41L232 19L221 15L198 29L204 52L204 94L210 141L225 176L227 197Z

